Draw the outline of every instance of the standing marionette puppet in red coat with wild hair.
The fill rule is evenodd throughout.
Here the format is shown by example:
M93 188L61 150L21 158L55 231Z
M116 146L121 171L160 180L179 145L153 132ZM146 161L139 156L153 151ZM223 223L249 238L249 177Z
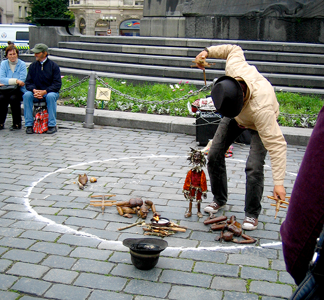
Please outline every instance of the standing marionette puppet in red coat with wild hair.
M206 166L206 158L203 152L200 150L190 148L190 154L187 158L193 167L187 173L186 180L183 185L183 193L189 202L189 210L185 213L185 217L189 218L192 215L192 201L195 199L197 202L197 216L203 218L203 213L200 211L200 203L202 201L201 196L204 199L207 198L207 181L206 175L202 167Z

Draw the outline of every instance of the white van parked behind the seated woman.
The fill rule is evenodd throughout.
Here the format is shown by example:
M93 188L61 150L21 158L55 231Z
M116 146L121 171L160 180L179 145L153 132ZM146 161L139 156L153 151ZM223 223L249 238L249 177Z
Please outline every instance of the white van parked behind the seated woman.
M8 46L8 41L15 43L15 46L25 52L29 49L29 24L0 24L0 49Z

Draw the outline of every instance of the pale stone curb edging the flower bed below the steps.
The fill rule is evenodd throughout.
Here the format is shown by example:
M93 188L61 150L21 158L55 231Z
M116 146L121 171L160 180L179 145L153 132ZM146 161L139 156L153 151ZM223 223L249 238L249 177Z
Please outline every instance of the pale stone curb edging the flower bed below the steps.
M57 106L59 120L84 122L85 116L85 108ZM93 122L96 125L196 135L194 118L95 109ZM312 129L285 126L280 128L289 145L307 146Z

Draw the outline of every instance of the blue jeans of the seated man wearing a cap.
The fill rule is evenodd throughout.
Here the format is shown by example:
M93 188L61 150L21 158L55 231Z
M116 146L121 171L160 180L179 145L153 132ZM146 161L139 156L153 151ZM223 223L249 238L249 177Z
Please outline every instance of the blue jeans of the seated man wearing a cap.
M59 99L59 93L48 93L43 96L46 100L47 111L49 113L49 127L56 126L56 101ZM38 103L38 101L44 101L43 99L34 98L32 92L26 92L23 95L24 100L24 117L25 117L25 126L32 126L34 122L34 116L32 115L33 104Z

